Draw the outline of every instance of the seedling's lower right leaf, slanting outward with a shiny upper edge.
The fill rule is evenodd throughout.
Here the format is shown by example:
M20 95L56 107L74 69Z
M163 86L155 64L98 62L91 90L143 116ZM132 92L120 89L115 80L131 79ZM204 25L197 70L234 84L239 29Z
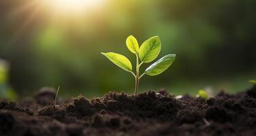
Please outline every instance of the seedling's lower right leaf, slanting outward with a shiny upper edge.
M150 76L159 75L163 73L175 60L175 54L168 54L160 58L157 62L150 65L146 70L145 73Z

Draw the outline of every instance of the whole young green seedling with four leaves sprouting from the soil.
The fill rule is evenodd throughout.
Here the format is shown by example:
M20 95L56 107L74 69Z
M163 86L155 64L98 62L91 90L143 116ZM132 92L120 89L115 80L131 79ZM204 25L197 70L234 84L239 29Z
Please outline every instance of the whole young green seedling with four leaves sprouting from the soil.
M126 45L127 48L136 56L135 73L133 73L131 62L127 57L121 54L116 54L114 52L101 52L101 54L110 59L110 61L112 61L112 63L114 63L118 67L121 67L125 71L130 72L134 76L135 95L138 93L140 78L142 78L143 75L146 74L150 76L155 76L163 73L163 71L165 71L168 67L170 67L170 65L172 65L176 56L175 54L168 54L166 56L163 56L163 58L160 58L157 62L150 65L144 71L144 73L140 75L140 66L143 63L150 63L151 61L155 60L155 58L157 58L157 56L159 55L159 52L161 50L160 38L158 36L150 37L149 39L144 41L139 47L137 39L130 35L126 39Z

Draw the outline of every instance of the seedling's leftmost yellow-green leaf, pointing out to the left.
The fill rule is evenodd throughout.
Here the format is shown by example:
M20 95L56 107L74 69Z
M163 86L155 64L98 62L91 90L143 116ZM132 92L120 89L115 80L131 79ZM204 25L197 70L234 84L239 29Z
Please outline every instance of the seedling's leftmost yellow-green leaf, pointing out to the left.
M108 59L110 59L110 61L112 61L112 63L114 63L118 67L121 67L125 71L129 71L129 72L132 71L131 62L127 57L114 52L108 52L108 53L101 52L101 54L106 56Z

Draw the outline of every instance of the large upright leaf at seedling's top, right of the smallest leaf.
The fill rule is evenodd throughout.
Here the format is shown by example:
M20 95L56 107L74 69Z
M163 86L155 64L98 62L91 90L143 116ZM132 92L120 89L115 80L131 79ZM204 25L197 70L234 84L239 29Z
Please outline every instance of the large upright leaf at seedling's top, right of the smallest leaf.
M143 63L150 63L157 58L161 50L161 41L158 36L150 37L140 46L139 56Z

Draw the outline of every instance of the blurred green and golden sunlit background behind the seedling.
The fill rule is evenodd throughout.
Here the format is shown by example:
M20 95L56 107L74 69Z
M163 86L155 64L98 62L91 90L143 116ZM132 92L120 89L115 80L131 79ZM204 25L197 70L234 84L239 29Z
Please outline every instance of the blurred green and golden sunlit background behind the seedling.
M144 76L140 92L244 90L256 78L255 7L254 0L1 0L0 58L10 71L0 84L20 96L43 86L73 97L133 92L131 73L100 52L135 62L127 36L142 44L159 35L159 57L176 54L176 61L161 75Z

